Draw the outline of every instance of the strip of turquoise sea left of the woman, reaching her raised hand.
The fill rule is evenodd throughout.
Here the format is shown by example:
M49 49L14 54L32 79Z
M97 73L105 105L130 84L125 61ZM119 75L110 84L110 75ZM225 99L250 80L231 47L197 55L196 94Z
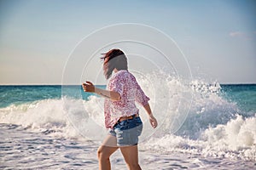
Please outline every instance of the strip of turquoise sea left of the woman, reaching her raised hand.
M97 86L105 88L105 86ZM9 105L22 105L43 99L61 99L68 96L73 99L88 99L90 93L84 93L81 86L0 86L0 108Z

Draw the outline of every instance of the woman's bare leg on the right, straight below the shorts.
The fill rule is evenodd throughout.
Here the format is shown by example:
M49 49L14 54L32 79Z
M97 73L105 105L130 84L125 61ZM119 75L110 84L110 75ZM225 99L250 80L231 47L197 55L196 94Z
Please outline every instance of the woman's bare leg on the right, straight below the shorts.
M130 170L141 170L138 164L137 145L120 147L120 150L125 158L125 162Z

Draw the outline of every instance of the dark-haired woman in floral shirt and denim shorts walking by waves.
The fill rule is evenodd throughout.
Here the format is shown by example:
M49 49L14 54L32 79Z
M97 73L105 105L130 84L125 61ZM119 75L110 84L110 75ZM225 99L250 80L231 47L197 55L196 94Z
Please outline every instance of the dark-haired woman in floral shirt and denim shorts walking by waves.
M157 127L157 121L148 105L149 98L128 71L127 59L121 50L112 49L102 59L104 75L107 79L110 78L107 90L96 88L91 82L82 85L84 92L96 93L106 98L105 126L110 131L98 149L99 168L111 169L109 157L120 149L129 169L141 169L138 164L137 143L143 130L143 122L135 101L147 111L151 126Z

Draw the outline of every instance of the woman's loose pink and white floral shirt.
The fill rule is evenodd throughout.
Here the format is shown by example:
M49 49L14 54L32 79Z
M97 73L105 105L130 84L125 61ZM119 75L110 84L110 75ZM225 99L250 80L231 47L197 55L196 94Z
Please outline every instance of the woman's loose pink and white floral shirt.
M149 98L129 71L121 70L114 73L108 82L107 89L118 92L121 96L119 101L105 99L104 115L107 128L113 128L120 117L137 114L135 101L140 105L148 104Z

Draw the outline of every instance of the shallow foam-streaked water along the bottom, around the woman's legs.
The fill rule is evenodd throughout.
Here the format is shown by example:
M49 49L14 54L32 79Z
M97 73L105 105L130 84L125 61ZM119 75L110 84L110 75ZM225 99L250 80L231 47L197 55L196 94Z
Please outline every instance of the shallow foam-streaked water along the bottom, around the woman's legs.
M49 131L30 132L1 124L0 169L98 169L99 144L77 139L53 138ZM180 152L139 151L143 169L253 169L256 162L206 157ZM127 169L120 151L111 156L112 169Z

